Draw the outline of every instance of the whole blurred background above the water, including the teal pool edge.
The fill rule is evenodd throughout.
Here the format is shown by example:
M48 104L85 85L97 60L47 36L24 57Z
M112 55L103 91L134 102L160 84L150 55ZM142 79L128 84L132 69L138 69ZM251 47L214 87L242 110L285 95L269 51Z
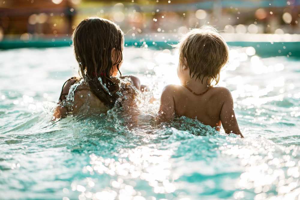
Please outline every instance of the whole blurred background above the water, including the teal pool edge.
M299 56L299 8L299 0L0 0L0 48L69 46L76 25L99 16L120 25L127 46L170 48L191 28L213 25L229 45Z

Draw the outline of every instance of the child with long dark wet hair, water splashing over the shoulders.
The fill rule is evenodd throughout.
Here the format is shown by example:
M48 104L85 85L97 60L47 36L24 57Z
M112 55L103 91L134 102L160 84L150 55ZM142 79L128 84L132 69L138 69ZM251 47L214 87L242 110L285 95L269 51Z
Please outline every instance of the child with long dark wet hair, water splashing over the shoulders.
M123 97L120 106L125 109L133 106L140 80L134 76L116 78L123 61L122 30L110 20L87 18L75 28L72 39L80 77L64 83L53 117L82 111L106 113L120 96Z

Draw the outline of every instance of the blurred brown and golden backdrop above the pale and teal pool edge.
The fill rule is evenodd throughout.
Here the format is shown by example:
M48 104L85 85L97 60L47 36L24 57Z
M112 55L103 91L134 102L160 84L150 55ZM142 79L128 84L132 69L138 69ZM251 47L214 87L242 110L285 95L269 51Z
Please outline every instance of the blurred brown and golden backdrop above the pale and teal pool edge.
M226 33L299 34L299 8L296 0L0 0L0 39L65 37L88 16L110 19L133 37L202 25Z

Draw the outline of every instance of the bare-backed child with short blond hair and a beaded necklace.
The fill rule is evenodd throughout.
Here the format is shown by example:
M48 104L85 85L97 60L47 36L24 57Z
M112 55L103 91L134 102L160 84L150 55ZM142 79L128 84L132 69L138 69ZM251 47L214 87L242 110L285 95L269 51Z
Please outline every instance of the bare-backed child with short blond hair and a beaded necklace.
M161 95L159 121L176 115L201 121L225 133L241 134L233 109L230 91L215 87L220 71L228 62L228 46L211 26L189 31L177 45L177 74L182 85L167 85Z

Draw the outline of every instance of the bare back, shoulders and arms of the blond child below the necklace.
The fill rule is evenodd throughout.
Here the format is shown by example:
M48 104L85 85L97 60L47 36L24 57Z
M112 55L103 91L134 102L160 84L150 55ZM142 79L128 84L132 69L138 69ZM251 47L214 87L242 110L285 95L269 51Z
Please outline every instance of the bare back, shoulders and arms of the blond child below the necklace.
M205 94L195 95L182 85L167 85L161 96L160 114L166 121L175 116L197 119L216 130L220 130L222 121L226 133L241 134L231 93L224 87L212 87Z

